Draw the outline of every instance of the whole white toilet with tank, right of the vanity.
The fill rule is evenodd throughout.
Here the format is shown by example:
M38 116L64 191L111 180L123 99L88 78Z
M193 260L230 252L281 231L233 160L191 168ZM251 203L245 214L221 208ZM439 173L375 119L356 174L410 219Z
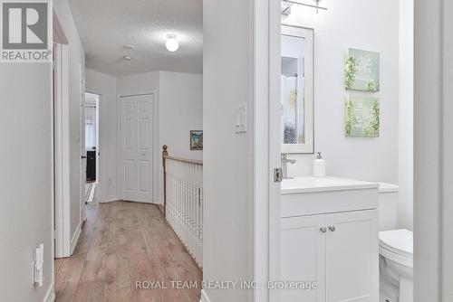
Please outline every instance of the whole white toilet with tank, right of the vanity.
M379 189L380 301L413 302L413 235L396 230L398 185Z

